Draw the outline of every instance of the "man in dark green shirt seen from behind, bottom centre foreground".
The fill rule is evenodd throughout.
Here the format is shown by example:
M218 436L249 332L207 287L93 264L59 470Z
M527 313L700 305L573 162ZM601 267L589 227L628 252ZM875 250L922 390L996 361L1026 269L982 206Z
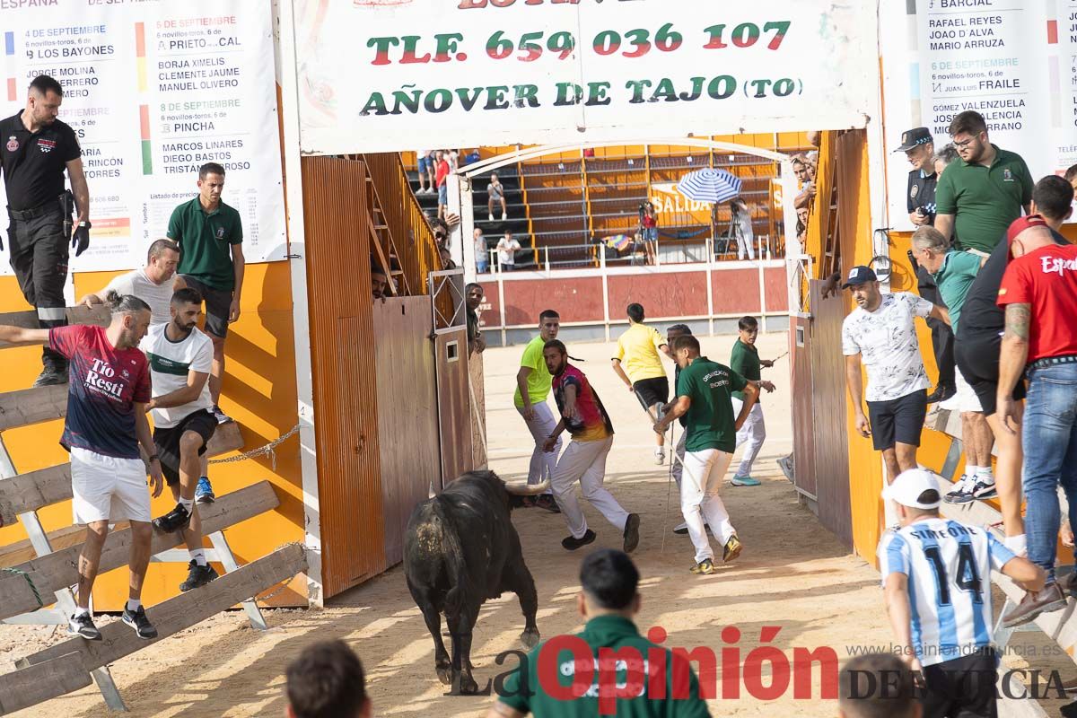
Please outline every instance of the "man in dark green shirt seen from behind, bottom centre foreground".
M639 582L640 572L623 551L601 549L584 559L583 590L576 595L576 608L587 619L584 631L536 646L498 688L498 702L487 718L521 718L528 713L536 718L710 716L687 659L647 640L635 628ZM661 629L652 632L648 635L658 640L665 638ZM659 671L666 674L665 690L661 698L652 698ZM521 675L527 676L526 688Z

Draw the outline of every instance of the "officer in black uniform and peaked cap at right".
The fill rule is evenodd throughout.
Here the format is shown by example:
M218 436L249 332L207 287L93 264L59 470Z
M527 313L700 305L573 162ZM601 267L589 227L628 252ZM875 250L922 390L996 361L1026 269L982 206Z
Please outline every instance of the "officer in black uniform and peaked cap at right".
M909 221L918 227L935 224L935 185L938 174L935 172L935 141L926 127L917 127L901 135L901 146L894 152L904 152L912 165L909 172L909 187L905 203L909 211ZM948 238L949 239L949 238ZM920 296L932 304L945 307L935 280L927 270L912 259L909 259L917 271L917 284ZM932 328L932 346L935 349L935 364L939 369L939 381L935 391L927 395L927 403L945 402L957 391L954 384L953 332L945 322L936 319L927 320Z

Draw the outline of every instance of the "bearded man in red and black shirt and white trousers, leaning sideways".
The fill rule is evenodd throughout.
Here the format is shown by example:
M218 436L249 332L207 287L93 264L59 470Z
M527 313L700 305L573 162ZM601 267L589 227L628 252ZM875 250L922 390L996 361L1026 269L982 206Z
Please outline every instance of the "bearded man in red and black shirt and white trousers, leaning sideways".
M543 448L553 451L561 432L569 430L572 441L557 461L550 484L572 535L561 546L575 551L595 540L595 532L587 527L587 519L576 501L575 483L579 481L584 497L602 512L610 523L617 526L625 537L625 552L631 553L640 543L640 515L629 513L613 494L603 487L605 460L613 446L613 423L602 406L602 400L591 388L587 377L569 364L564 344L551 339L543 347L546 368L554 377L554 398L561 412L561 421L546 439Z

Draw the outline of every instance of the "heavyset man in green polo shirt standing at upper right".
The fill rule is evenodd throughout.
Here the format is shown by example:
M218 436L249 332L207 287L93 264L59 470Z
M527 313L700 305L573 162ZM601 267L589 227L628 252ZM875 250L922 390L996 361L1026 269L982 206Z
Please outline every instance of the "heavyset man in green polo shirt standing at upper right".
M950 137L961 159L939 175L935 228L956 247L988 256L1021 211L1029 213L1035 182L1020 155L991 144L979 112L954 117Z

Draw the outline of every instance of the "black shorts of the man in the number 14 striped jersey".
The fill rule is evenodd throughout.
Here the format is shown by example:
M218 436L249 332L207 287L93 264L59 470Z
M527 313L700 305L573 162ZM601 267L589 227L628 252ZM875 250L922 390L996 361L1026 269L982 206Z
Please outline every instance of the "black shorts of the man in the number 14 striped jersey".
M996 718L997 675L994 648L924 666L924 718Z

